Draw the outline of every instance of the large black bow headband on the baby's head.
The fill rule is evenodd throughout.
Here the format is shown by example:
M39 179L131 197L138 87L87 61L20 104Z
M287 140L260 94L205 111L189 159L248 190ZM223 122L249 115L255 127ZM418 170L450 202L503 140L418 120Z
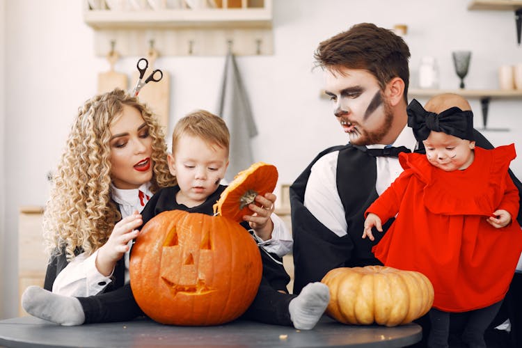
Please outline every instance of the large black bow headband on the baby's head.
M460 139L474 141L473 112L462 111L457 106L441 113L426 111L417 100L412 100L406 109L408 126L418 141L426 140L429 132L444 132Z

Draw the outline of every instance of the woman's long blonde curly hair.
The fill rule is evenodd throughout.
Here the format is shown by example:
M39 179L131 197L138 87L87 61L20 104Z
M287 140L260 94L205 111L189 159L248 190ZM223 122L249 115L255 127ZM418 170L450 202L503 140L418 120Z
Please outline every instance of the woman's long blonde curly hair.
M105 244L121 219L111 199L109 127L123 105L138 109L149 128L154 161L150 190L175 184L163 131L148 106L119 88L87 100L78 109L45 207L43 233L49 255L63 247L68 260L75 250L90 255Z

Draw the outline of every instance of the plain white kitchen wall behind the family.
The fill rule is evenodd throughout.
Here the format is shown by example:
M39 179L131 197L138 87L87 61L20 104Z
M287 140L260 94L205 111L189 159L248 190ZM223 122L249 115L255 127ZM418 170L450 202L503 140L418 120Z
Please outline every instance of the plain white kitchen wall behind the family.
M274 0L274 55L237 59L259 130L253 141L255 160L276 164L280 182L290 183L319 150L347 141L329 102L319 98L322 72L312 70L313 52L319 41L358 22L387 28L408 24L405 40L411 47L413 78L420 58L435 56L441 88L457 87L451 52L470 49L467 86L498 88L498 66L522 62L514 14L468 11L468 2ZM10 263L2 267L6 271L1 274L0 318L17 315L17 209L45 204L49 189L45 175L61 155L70 121L77 107L95 93L97 73L109 68L104 58L93 55L93 30L82 22L81 0L7 1L3 17L9 35L1 45L7 49L6 86L0 95L5 95L8 117L0 162L5 162L9 185L0 255L4 264ZM116 70L130 74L136 58L123 59ZM223 57L160 56L156 65L171 74L171 124L193 109L215 111ZM480 125L480 103L471 102ZM522 100L493 100L489 125L511 131L486 135L495 145L518 141L522 154L521 106ZM0 134L1 130L0 124ZM522 177L521 159L512 168Z

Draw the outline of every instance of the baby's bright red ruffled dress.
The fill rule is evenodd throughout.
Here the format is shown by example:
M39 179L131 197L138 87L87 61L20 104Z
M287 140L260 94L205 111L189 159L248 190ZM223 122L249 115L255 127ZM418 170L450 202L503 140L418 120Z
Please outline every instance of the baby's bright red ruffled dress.
M504 298L522 251L516 216L519 191L507 173L514 145L475 148L464 171L446 172L425 155L400 154L404 172L366 214L395 222L372 251L383 264L420 271L432 281L434 307L446 312L484 308ZM487 223L505 209L512 223Z

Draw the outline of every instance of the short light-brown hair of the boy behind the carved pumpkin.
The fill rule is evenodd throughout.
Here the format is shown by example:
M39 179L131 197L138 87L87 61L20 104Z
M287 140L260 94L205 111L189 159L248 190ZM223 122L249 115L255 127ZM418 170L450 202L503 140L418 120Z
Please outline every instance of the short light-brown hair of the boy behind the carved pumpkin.
M223 118L206 110L196 110L177 121L172 133L172 153L174 154L180 138L184 135L196 136L211 146L228 149L230 132Z

